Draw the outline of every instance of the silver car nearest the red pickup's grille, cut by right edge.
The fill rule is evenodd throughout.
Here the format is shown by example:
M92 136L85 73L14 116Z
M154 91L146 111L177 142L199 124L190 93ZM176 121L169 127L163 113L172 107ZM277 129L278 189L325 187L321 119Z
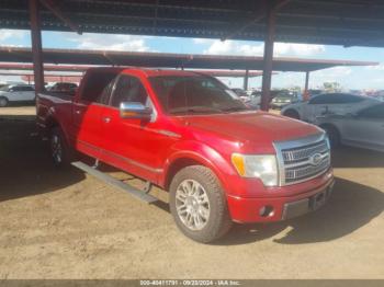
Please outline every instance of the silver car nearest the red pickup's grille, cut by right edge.
M332 147L340 144L384 152L384 103L318 119Z

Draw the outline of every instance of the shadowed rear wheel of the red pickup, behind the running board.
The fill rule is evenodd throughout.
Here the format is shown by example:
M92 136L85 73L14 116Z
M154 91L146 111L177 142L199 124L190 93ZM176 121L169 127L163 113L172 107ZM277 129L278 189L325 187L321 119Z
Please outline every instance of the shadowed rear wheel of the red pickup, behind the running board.
M56 168L66 168L74 160L72 150L69 148L63 130L54 127L50 130L50 156Z

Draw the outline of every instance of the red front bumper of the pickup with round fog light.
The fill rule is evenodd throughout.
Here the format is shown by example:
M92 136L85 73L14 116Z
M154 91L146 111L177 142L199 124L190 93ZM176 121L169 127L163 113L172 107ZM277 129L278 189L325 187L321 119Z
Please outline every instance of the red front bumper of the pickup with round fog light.
M325 184L298 195L244 198L228 196L228 208L236 222L272 222L291 219L318 209L329 198L334 177Z

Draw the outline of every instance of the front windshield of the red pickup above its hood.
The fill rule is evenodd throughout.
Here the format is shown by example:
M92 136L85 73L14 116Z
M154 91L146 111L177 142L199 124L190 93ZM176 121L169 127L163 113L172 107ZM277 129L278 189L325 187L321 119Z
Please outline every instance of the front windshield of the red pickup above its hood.
M160 76L149 81L168 114L229 113L249 110L218 80L205 76Z

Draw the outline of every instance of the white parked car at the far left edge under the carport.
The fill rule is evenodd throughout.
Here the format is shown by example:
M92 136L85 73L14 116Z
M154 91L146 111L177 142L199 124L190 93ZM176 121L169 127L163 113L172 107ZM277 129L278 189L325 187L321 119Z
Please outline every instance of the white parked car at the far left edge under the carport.
M15 102L35 101L35 90L29 84L7 84L0 88L0 107Z

